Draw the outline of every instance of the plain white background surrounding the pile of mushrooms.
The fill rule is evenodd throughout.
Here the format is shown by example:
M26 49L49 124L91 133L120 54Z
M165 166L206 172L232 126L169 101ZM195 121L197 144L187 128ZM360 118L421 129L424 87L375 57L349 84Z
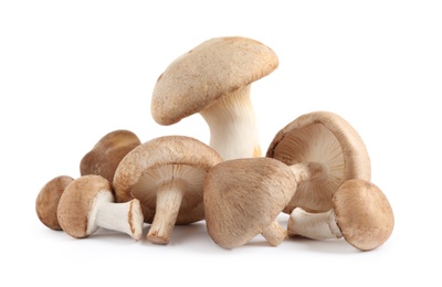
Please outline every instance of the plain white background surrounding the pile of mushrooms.
M441 15L440 1L422 0L1 1L0 285L440 286ZM313 110L359 131L394 211L389 241L358 252L344 240L271 247L259 235L227 251L203 222L176 227L167 246L45 227L38 192L56 176L78 177L105 134L208 142L199 115L157 125L150 95L171 61L225 35L259 40L280 59L251 89L263 151Z

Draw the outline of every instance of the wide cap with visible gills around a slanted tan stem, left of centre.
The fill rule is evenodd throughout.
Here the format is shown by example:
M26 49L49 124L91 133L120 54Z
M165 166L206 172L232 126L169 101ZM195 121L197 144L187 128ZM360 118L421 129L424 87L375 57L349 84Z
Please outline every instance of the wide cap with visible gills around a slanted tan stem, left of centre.
M156 213L158 188L172 180L183 187L176 224L189 224L204 217L203 178L221 156L208 145L186 136L164 136L141 144L118 164L114 178L117 202L136 198L146 223Z

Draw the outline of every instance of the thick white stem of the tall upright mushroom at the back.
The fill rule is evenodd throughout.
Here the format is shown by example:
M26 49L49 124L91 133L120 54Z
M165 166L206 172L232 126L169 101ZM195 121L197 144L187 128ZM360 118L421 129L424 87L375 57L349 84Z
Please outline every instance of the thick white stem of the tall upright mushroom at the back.
M223 160L261 156L250 85L218 99L200 111L210 128L209 146Z

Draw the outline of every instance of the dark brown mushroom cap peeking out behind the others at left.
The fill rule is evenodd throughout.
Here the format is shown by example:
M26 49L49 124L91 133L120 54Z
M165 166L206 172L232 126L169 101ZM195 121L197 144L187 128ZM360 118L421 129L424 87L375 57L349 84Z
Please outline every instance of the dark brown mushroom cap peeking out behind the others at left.
M119 161L139 145L141 141L130 130L117 129L106 134L82 158L81 176L97 174L112 182Z

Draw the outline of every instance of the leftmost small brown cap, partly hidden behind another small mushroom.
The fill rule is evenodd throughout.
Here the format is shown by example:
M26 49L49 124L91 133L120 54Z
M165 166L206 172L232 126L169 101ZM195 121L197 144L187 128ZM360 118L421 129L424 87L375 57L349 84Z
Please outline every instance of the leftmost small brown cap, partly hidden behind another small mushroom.
M59 208L60 198L66 187L74 181L67 176L60 176L46 182L40 190L35 200L35 212L39 220L54 231L61 231L56 210Z

